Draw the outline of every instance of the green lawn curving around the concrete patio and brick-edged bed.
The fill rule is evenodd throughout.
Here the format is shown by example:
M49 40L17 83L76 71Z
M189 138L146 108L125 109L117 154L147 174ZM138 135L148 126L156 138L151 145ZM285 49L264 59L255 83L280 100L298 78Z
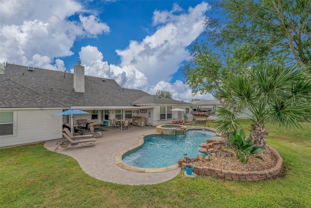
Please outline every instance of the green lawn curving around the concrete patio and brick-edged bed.
M248 126L243 120L242 128ZM267 124L267 144L283 157L286 175L257 182L188 178L182 170L161 184L118 185L87 175L73 158L43 143L2 149L0 207L310 207L311 124L303 126L294 131Z

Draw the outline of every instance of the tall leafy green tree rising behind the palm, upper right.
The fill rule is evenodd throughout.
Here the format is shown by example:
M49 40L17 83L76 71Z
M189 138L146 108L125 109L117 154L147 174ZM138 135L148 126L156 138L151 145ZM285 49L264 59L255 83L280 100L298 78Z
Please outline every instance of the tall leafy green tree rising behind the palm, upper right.
M280 66L296 61L305 69L311 65L311 0L211 3L220 18L206 18L205 38L191 45L183 70L192 93L214 96L228 77L247 74L268 60Z

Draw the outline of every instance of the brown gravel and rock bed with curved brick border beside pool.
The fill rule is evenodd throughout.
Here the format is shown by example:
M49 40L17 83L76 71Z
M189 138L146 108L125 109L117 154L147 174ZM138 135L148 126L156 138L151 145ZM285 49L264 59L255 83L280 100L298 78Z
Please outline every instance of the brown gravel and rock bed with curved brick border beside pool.
M221 145L221 146L220 146ZM235 152L224 150L226 143L222 137L213 137L207 143L200 144L200 151L208 153L206 157L198 154L196 158L180 159L178 164L183 168L190 164L193 172L201 175L218 176L233 181L257 181L277 175L283 164L279 153L266 145L266 151L259 153L264 161L250 158L246 164L240 162Z

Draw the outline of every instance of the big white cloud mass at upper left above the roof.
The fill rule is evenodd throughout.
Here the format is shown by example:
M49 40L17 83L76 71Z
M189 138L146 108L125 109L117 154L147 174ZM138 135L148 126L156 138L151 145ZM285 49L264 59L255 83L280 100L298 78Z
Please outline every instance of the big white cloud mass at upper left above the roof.
M109 32L109 26L94 15L80 16L81 21L67 19L84 11L80 2L73 0L0 1L0 60L40 68L50 61L49 69L55 68L59 63L50 63L55 57L73 55L71 48L77 38ZM37 56L42 60L34 59Z

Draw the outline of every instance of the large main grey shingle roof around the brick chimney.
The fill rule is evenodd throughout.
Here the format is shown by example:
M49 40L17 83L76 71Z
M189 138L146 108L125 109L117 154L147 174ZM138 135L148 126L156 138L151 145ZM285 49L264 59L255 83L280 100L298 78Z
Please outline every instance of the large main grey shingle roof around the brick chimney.
M27 66L6 64L4 74L0 75L0 107L30 107L38 103L46 107L132 106L135 100L149 95L141 90L123 89L113 79L103 81L93 76L85 76L85 93L76 93L73 74L64 75L64 72L39 68L29 71Z

